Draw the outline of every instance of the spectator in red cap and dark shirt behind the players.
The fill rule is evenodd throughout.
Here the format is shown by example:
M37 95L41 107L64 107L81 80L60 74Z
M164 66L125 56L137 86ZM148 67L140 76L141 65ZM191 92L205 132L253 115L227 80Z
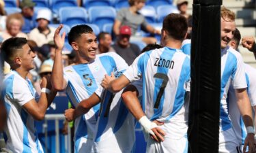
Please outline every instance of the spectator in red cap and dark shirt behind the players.
M128 26L122 26L117 36L117 41L112 46L128 65L131 65L134 59L139 56L140 49L136 44L130 43L130 35L132 31Z

